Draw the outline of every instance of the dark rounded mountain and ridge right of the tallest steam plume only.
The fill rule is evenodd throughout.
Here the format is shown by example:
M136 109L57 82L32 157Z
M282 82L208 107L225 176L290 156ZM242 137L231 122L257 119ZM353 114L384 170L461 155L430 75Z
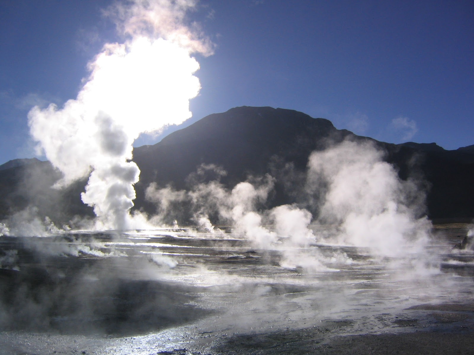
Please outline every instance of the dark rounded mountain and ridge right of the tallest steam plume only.
M171 183L177 189L189 187L186 178L201 164L224 168L228 175L221 177L221 182L228 187L249 175L269 173L276 177L270 206L301 202L301 185L310 153L346 138L374 142L387 153L386 160L396 167L402 179L416 175L425 180L419 185L428 192L429 217L474 217L471 151L446 151L436 143L377 142L337 130L326 119L272 107L235 107L206 116L153 146L136 148L134 161L142 171L136 186L136 206L152 212L154 207L144 198L146 186L156 182L159 186ZM291 171L287 169L289 164Z

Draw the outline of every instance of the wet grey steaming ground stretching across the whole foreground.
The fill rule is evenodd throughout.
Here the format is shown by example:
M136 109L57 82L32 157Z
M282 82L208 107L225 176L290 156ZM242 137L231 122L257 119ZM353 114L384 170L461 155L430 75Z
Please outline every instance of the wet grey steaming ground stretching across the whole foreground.
M2 354L468 354L466 232L437 225L403 258L187 229L3 236Z

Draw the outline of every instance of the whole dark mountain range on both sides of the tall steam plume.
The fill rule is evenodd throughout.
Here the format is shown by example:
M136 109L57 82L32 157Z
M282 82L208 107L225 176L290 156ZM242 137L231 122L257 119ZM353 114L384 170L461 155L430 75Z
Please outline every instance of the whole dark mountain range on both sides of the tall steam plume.
M146 187L155 182L157 186L189 188L190 176L201 164L225 169L227 175L221 176L220 181L228 187L248 176L268 173L276 182L267 207L298 203L310 153L345 139L373 142L386 152L386 160L396 167L402 179L417 177L419 188L427 191L429 218L474 217L474 146L446 151L436 143L378 142L338 130L323 118L272 107L232 108L206 116L155 145L135 148L133 160L141 174L135 186L134 208L155 213L155 205L145 199ZM28 205L60 223L74 214L92 214L80 199L86 180L57 190L52 185L60 174L51 164L27 162L0 167L6 166L0 169L0 220Z

